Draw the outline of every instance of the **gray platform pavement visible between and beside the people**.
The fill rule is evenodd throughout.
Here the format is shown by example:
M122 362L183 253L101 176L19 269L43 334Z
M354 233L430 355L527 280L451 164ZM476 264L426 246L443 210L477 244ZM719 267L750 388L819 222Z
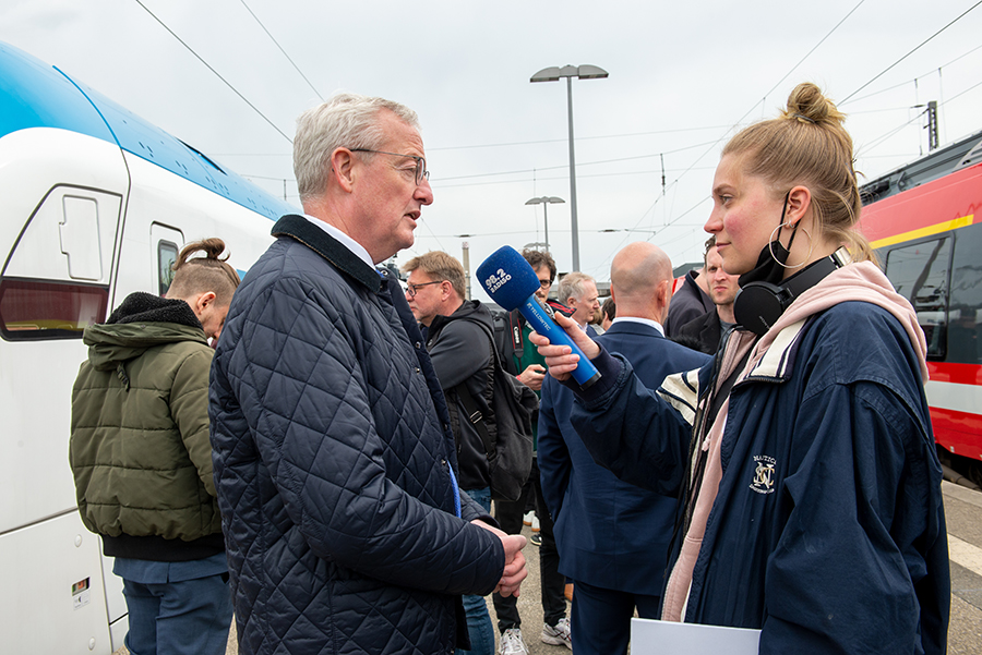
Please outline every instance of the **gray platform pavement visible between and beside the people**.
M948 655L982 653L982 493L945 482L945 514L948 522L948 551L951 561L951 621L948 628ZM526 526L525 536L531 536ZM529 544L525 548L529 574L522 585L518 611L529 655L562 655L563 646L539 641L542 605L539 595L539 554ZM491 608L489 596L489 608ZM495 621L494 609L491 619ZM233 627L235 628L235 627ZM495 632L498 630L495 629ZM113 655L124 655L120 648ZM227 655L238 655L235 630L229 635Z

